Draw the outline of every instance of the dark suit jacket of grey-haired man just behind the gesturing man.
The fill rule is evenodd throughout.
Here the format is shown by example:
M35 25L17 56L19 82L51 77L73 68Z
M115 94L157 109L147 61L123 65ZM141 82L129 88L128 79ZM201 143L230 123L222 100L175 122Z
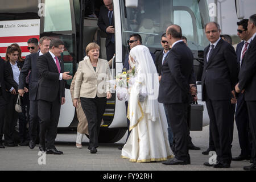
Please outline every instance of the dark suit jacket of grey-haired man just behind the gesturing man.
M38 60L38 57L39 57L39 52L27 55L19 75L18 89L24 89L26 85L26 77L28 75L28 72L31 71L30 81L29 81L30 88L28 92L29 98L31 101L36 100L36 92L38 90L37 87L38 87L39 74L38 74L38 68L36 67L36 62Z

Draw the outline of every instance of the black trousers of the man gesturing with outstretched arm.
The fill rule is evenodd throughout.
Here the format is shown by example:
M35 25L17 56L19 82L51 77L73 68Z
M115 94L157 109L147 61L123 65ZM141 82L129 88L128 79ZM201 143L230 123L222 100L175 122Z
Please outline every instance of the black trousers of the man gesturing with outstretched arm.
M60 117L60 98L56 97L53 102L38 100L38 116L40 144L46 144L47 149L55 148L54 142Z

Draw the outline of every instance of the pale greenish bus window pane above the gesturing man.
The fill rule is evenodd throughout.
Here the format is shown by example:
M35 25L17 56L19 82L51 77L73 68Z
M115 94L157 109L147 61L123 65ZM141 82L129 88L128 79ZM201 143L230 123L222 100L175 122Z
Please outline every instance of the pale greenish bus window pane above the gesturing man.
M46 0L44 32L71 30L71 5L69 0Z

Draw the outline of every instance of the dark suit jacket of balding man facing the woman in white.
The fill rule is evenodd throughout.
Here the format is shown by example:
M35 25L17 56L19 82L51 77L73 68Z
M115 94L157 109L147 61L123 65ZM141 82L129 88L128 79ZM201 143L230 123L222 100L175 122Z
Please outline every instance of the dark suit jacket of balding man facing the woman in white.
M189 102L193 54L183 42L172 47L164 60L162 72L158 101L164 104Z

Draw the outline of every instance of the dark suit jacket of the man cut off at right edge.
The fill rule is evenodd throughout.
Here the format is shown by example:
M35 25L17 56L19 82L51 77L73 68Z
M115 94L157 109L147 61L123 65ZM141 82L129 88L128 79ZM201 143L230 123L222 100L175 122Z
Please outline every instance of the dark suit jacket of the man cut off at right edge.
M243 62L239 73L239 88L245 89L245 101L256 101L256 38L251 40Z

